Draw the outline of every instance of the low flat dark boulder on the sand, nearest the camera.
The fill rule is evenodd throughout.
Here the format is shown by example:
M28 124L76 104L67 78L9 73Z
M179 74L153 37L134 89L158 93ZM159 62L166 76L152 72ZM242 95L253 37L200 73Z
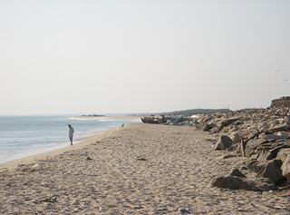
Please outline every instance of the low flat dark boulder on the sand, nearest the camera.
M247 180L231 175L218 177L212 181L211 185L218 188L246 191L274 191L277 189L275 184L267 179Z

